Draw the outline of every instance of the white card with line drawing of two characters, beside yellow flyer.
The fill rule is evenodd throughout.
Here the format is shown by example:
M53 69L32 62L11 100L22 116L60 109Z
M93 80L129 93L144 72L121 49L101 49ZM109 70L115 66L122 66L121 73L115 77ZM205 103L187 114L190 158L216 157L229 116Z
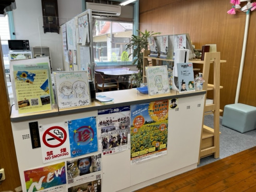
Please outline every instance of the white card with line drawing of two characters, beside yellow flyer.
M59 109L91 105L87 71L54 72Z

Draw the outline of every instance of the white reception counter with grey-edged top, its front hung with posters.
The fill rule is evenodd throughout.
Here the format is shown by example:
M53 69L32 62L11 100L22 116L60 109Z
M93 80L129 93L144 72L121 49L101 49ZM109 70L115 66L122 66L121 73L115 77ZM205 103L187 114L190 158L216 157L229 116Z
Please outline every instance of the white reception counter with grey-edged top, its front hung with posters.
M26 191L24 170L72 159L43 164L41 148L31 146L29 123L37 121L38 125L54 125L70 119L97 116L98 110L102 109L165 99L175 98L178 104L175 109L168 109L167 153L134 164L130 160L130 146L128 150L102 155L101 191L133 191L197 167L205 91L184 94L171 91L170 94L148 96L131 89L98 94L114 98L114 103L102 104L95 100L88 107L62 110L54 105L51 111L22 115L12 109L11 124L23 191Z

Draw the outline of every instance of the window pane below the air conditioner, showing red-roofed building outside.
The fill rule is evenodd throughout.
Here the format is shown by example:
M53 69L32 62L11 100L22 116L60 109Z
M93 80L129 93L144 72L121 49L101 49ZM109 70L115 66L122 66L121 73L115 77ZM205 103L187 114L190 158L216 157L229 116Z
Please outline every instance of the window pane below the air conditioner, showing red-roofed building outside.
M131 58L128 59L124 55L130 54L130 51L126 51L126 44L129 43L132 32L132 22L96 19L93 30L94 61L96 63L131 61Z

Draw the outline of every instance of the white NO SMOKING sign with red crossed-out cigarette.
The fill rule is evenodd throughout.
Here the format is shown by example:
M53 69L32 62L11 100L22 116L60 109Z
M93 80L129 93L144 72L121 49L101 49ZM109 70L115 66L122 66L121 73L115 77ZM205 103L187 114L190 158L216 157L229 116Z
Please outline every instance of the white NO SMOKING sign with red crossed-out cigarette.
M43 163L70 158L70 142L67 123L60 122L40 127Z

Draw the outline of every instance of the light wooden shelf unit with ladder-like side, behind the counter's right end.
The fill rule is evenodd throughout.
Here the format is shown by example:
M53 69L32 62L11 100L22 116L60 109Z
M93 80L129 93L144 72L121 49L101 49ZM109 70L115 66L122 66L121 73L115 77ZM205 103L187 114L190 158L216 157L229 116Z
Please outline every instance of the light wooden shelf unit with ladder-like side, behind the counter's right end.
M146 66L157 66L161 65L162 61L173 61L170 59L160 59L160 58L152 58L148 57L150 54L150 50L144 51L143 58L143 82L147 82L145 67ZM151 60L151 64L149 64L148 59ZM207 93L212 91L213 103L206 104L206 99L204 100L204 115L213 114L214 116L214 128L210 128L206 125L203 125L204 116L202 118L202 133L201 133L201 141L200 141L200 150L199 150L199 160L200 159L214 154L214 158L219 158L219 113L223 110L219 109L219 95L220 89L223 86L220 86L220 63L225 63L226 60L220 60L219 52L210 52L205 53L204 60L190 60L189 62L196 63L197 66L200 67L200 71L202 71L202 78L204 79L203 90L206 90ZM210 65L213 65L213 84L208 83L209 73L210 73ZM198 68L195 69L198 71Z

